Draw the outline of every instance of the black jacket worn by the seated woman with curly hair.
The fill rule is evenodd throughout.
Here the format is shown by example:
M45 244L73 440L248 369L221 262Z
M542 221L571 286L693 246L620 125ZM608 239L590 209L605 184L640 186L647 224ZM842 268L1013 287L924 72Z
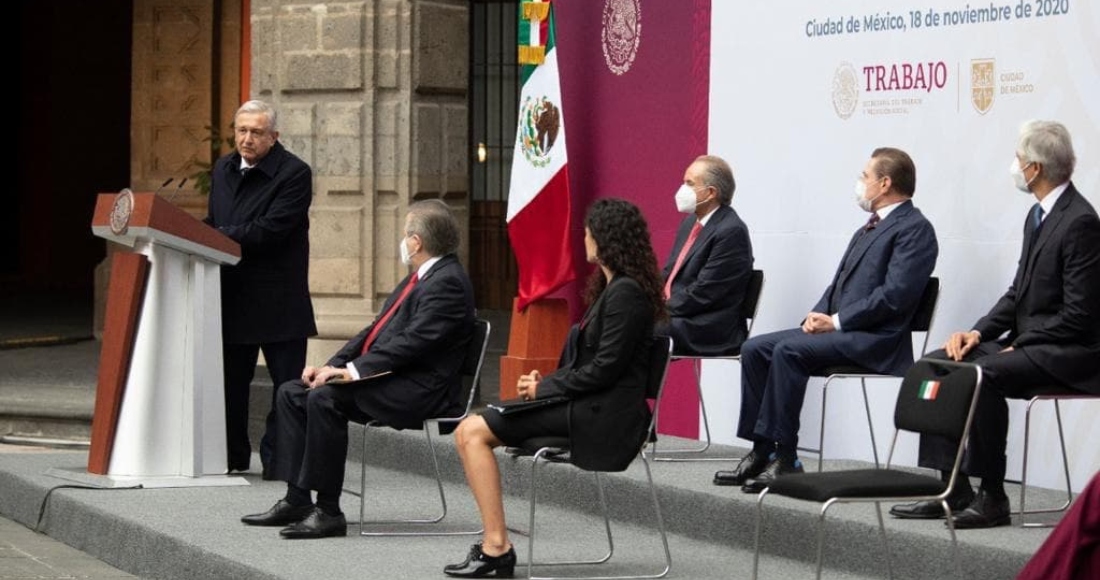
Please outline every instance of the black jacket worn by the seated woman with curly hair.
M653 311L641 285L615 276L562 352L562 366L539 381L538 398L566 395L572 461L622 471L648 435L646 381Z

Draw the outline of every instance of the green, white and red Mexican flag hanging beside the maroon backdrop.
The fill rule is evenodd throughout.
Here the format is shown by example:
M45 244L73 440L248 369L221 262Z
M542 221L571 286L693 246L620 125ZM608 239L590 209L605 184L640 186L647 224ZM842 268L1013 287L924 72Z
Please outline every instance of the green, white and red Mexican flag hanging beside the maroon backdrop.
M508 193L508 238L519 266L524 309L574 277L569 163L549 1L519 9L522 91Z

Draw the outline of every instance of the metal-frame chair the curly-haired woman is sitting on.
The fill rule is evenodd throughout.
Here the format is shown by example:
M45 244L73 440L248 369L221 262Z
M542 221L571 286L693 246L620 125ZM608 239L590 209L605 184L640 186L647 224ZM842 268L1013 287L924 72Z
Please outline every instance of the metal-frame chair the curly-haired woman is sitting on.
M650 369L649 369L649 382L647 384L646 397L649 400L657 400L660 396L661 390L664 385L664 377L668 373L669 361L672 357L672 339L669 337L656 337L653 344L650 350ZM650 428L652 429L657 425L656 414L650 419ZM539 577L534 574L534 567L539 566L578 566L578 565L600 565L610 560L615 552L615 544L612 539L612 526L610 516L607 510L607 499L604 491L604 478L602 478L600 471L593 471L593 475L596 480L596 491L600 497L600 506L603 512L604 517L604 528L607 533L607 554L602 558L594 560L564 560L564 561L546 561L538 562L535 561L535 513L537 502L537 489L538 489L538 472L540 463L571 463L569 455L569 438L568 437L538 437L524 441L522 445L517 447L509 447L506 452L514 457L530 457L531 458L531 482L528 491L528 497L530 501L530 516L528 519L527 535L527 578L532 580L617 580L617 579L648 579L648 578L663 578L669 573L672 568L672 554L669 550L669 538L664 532L664 519L661 516L661 505L657 499L657 486L653 484L653 474L650 470L649 460L642 450L646 448L644 442L638 449L638 457L641 458L641 463L646 469L646 479L649 482L649 494L653 502L653 514L656 516L657 529L661 537L661 545L664 548L664 567L659 571L651 574L635 574L635 576L568 576L568 577ZM522 532L520 532L524 534Z

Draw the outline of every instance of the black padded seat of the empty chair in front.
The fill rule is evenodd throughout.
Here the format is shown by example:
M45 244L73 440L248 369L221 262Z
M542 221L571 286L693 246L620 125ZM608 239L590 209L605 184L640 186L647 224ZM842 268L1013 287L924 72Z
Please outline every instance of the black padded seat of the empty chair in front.
M858 469L792 473L776 478L768 489L778 495L823 503L831 497L937 495L945 486L939 478L931 475L894 469Z

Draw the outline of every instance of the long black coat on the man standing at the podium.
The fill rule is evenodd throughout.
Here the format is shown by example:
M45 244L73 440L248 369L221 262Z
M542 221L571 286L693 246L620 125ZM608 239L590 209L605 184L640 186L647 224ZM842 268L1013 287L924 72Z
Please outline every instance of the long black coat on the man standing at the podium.
M219 158L207 223L241 244L221 266L221 325L228 344L261 344L317 333L309 298L312 172L276 142L248 174L241 155Z

